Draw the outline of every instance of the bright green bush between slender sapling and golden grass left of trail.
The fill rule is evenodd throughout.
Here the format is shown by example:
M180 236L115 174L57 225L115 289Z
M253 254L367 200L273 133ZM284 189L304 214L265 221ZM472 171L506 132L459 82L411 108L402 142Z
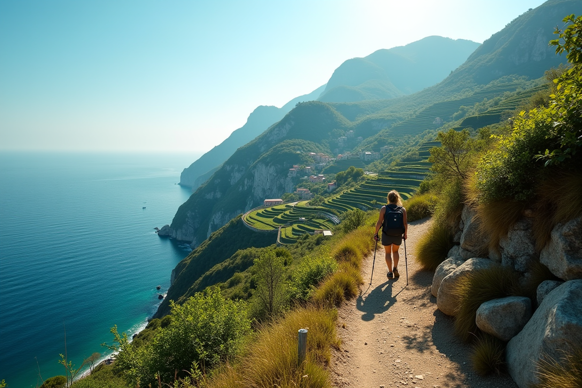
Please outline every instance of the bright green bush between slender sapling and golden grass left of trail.
M290 285L294 299L307 300L320 282L338 269L338 263L328 255L304 257L299 267L293 272Z

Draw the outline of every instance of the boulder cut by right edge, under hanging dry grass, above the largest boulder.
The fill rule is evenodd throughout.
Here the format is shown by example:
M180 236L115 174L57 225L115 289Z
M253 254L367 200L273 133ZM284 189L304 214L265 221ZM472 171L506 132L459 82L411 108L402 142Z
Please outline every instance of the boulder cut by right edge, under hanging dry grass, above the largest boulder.
M540 261L560 279L582 279L582 216L559 223L542 249Z

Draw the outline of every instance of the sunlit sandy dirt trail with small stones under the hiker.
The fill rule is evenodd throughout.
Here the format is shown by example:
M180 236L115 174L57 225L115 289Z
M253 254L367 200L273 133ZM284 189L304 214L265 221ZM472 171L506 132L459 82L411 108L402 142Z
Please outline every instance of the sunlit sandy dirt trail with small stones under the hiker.
M364 259L360 296L339 308L342 346L331 365L336 387L517 387L509 376L476 375L470 347L454 336L453 319L437 309L430 292L432 272L420 271L414 261L415 244L430 224L430 219L410 223L409 286L404 287L403 245L398 280L386 279L384 248L378 245L368 286L373 252Z

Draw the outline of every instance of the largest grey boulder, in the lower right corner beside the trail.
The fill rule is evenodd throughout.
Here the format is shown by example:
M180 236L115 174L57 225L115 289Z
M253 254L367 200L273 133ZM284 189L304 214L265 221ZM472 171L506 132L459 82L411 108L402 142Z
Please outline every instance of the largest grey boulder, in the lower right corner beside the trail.
M582 280L553 289L506 350L509 374L520 388L537 383L537 363L559 360L582 343Z

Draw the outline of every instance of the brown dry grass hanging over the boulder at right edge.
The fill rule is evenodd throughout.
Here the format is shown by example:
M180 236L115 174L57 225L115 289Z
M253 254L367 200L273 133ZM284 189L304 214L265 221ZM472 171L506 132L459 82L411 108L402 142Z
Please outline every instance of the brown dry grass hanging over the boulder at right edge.
M582 214L582 173L559 170L546 177L537 190L533 232L541 251L552 229Z

